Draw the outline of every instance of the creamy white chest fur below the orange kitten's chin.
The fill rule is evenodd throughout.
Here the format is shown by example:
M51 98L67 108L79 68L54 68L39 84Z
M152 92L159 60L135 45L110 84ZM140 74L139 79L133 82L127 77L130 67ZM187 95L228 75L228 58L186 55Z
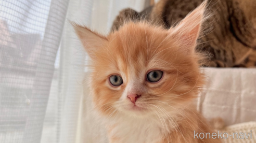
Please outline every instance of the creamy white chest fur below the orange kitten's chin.
M164 133L161 130L162 125L158 123L159 121L131 117L124 118L116 121L111 127L111 132L109 132L109 137L116 138L116 142L155 143L162 140Z

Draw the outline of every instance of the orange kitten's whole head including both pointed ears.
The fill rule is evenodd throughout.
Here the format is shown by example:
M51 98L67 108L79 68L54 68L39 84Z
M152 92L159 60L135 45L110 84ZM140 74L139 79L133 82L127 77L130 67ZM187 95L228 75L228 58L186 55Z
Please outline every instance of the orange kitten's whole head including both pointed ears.
M92 59L90 86L103 115L163 115L197 95L203 79L194 52L202 21L196 12L170 30L127 23L107 37L76 25Z

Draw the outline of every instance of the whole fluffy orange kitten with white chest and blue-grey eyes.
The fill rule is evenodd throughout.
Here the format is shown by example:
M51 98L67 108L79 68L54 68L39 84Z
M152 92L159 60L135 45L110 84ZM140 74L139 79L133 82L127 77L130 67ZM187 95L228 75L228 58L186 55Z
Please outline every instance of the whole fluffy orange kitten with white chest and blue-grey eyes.
M89 86L109 142L219 142L195 136L212 133L193 105L204 81L195 47L205 7L170 30L129 22L105 37L73 24L91 57Z

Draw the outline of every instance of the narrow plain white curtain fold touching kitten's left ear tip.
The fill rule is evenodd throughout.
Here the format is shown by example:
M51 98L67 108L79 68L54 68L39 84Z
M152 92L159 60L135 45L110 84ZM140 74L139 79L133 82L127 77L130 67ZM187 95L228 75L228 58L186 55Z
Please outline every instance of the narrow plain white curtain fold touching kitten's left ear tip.
M60 47L59 70L59 136L58 142L73 143L79 116L79 107L82 97L83 73L85 52L76 38L70 21L82 20L83 24L91 24L93 1L71 0L68 8L66 25Z

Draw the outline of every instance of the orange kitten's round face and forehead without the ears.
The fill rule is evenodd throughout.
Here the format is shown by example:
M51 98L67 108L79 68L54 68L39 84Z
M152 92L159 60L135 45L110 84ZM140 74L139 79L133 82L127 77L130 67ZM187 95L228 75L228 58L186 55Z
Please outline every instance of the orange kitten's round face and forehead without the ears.
M91 86L97 107L107 114L117 109L140 116L190 101L199 78L193 54L160 28L126 28L96 52Z

